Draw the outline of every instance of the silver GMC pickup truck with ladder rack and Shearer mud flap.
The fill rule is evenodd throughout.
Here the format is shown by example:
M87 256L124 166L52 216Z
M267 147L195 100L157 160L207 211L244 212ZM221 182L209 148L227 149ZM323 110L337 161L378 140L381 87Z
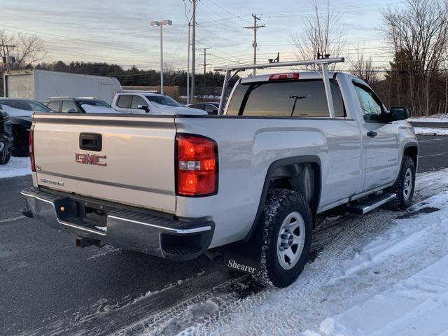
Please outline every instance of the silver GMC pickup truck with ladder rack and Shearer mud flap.
M80 247L189 260L226 246L229 267L288 286L308 260L316 214L412 202L409 112L328 72L341 61L240 79L218 116L36 113L22 213ZM224 69L226 80L239 69Z

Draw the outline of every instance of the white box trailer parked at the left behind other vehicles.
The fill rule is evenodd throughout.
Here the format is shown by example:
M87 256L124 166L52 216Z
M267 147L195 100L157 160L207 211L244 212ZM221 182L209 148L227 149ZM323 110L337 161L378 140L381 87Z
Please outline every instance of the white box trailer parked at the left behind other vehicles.
M117 78L46 70L4 73L5 97L30 98L45 102L50 97L96 97L111 104L121 92Z

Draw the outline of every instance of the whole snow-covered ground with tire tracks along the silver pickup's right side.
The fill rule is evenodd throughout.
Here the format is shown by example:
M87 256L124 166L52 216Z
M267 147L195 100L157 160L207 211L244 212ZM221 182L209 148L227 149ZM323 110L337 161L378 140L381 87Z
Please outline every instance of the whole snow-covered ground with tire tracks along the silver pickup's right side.
M118 335L448 335L448 169L416 181L407 211L325 221L288 288L234 281Z

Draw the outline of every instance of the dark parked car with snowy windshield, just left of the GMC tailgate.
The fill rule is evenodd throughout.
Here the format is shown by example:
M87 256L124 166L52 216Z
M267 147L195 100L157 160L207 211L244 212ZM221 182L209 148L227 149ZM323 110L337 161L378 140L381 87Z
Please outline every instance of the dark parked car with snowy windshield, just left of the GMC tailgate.
M29 155L29 129L34 112L51 112L47 106L32 99L0 98L0 106L8 112L13 127L13 156Z

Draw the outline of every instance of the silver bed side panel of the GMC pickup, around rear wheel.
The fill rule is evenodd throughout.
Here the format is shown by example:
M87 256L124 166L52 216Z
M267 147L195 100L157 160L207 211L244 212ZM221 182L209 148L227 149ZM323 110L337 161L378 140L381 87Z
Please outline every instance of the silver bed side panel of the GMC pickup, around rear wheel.
M318 156L323 169L319 208L362 191L361 135L353 120L176 118L176 127L218 144L218 194L178 196L176 205L179 217L204 216L216 223L211 247L244 239L258 210L267 169L276 160Z

